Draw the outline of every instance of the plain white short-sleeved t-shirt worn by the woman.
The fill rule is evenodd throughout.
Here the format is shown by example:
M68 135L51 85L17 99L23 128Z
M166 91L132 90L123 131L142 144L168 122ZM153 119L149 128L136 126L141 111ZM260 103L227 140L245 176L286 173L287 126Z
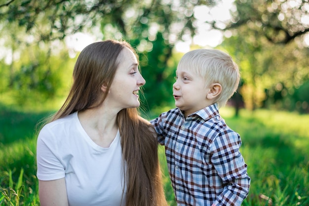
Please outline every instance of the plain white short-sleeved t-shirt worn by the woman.
M39 180L65 177L69 206L125 205L119 130L109 148L100 147L73 113L41 129L37 163Z

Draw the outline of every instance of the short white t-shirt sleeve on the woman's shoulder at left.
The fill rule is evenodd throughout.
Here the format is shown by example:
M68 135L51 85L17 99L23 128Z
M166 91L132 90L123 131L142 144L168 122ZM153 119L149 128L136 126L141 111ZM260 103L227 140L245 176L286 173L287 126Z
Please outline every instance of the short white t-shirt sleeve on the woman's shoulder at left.
M55 180L65 177L65 168L61 164L58 142L48 127L39 132L37 141L37 177L39 180Z

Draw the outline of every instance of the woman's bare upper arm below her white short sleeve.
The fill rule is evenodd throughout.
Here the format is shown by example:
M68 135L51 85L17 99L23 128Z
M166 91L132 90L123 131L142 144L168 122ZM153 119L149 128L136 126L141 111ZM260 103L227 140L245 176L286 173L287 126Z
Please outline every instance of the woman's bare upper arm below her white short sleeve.
M39 201L41 206L69 206L65 178L39 180Z

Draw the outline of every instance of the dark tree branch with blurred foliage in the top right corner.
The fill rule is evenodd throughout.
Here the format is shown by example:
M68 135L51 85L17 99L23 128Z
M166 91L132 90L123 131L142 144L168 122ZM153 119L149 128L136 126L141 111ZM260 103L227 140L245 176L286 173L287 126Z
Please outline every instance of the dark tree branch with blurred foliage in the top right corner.
M309 32L308 0L235 0L235 5L227 30L253 23L270 42L283 44Z

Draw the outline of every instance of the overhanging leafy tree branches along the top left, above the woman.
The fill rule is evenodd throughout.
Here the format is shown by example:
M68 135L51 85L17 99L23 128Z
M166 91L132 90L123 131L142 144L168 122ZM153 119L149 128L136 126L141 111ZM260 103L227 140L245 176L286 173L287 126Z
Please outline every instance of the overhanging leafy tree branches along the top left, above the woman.
M184 33L194 34L194 6L213 6L215 2L216 0L8 0L0 4L0 20L18 22L19 26L26 28L26 32L38 34L39 41L63 39L82 29L91 30L99 23L102 29L106 29L108 24L115 26L118 32L129 39L151 39L155 38L156 32L161 32L164 39L173 45ZM42 18L46 20L44 30Z

